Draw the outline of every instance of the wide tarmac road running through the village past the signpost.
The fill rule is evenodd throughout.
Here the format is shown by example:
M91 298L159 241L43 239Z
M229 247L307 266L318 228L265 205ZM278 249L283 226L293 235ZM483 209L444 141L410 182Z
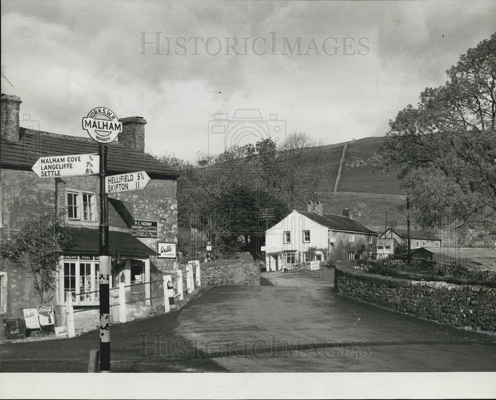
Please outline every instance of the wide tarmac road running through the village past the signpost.
M179 312L112 326L112 371L496 371L494 336L341 297L329 274L303 273L299 286L295 274L264 275L263 286L212 288ZM85 372L91 348L96 331L6 343L0 371Z

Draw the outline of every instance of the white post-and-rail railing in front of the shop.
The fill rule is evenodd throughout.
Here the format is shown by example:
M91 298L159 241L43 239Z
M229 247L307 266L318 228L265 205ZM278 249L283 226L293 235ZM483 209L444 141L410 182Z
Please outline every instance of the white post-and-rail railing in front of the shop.
M193 269L194 266L194 269ZM177 290L174 290L174 281L177 279ZM164 294L160 296L151 296L146 297L144 299L131 300L126 301L126 288L140 285L151 285L152 283L163 282L164 286ZM142 301L149 301L153 299L164 299L164 311L166 313L171 311L171 307L175 307L175 300L183 300L184 295L187 293L192 293L195 290L195 287L201 285L200 279L200 263L199 261L194 261L188 263L186 267L186 290L184 290L184 278L183 271L181 269L178 270L177 275L164 275L162 279L152 280L149 282L140 282L140 283L131 283L129 285L125 285L124 282L120 282L119 286L110 288L110 297L114 299L118 299L116 303L110 304L110 307L113 311L113 315L117 316L119 314L119 323L127 321L127 307L126 304L138 303ZM84 292L84 294L98 293L100 290L94 290L91 292ZM145 292L146 293L146 292ZM88 310L98 310L100 307L85 307L79 310L74 310L72 292L66 292L66 314L67 314L67 333L68 337L75 336L75 327L74 327L74 314L88 311ZM149 304L148 304L149 305ZM115 308L119 307L119 312L114 312ZM116 319L114 319L115 321Z

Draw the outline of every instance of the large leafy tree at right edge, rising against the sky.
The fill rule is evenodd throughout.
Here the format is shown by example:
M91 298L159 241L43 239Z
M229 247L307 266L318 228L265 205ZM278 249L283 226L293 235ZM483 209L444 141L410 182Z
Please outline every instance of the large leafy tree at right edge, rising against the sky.
M389 122L380 163L400 169L423 227L447 214L455 227L480 226L496 214L496 33L446 72Z

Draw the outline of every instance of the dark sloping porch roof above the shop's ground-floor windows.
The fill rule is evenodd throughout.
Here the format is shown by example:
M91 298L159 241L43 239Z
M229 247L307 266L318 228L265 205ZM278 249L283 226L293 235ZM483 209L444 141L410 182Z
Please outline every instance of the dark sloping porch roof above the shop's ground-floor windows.
M91 228L69 228L74 246L70 249L63 249L64 252L75 254L98 254L99 253L99 233L98 229ZM157 253L148 246L140 242L130 233L110 231L109 250L112 256L114 252L120 253L124 257L156 256Z

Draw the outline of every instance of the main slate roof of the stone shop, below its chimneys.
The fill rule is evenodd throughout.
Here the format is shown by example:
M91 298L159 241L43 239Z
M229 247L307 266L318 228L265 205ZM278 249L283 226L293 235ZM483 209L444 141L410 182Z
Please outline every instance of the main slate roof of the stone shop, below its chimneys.
M98 143L89 137L19 128L21 140L12 143L1 139L2 168L31 170L40 157L98 153ZM146 171L152 179L176 179L177 171L147 153L134 151L118 142L108 144L107 169L110 175Z

